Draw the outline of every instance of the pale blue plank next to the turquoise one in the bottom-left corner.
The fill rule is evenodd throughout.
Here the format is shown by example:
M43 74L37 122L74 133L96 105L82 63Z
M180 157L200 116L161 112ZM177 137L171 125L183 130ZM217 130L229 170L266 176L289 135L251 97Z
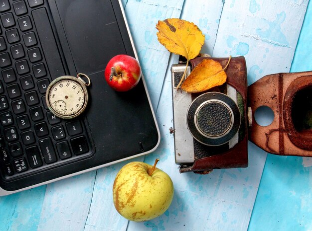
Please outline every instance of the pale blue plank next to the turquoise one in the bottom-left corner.
M37 230L83 231L95 175L96 171L91 171L48 184Z

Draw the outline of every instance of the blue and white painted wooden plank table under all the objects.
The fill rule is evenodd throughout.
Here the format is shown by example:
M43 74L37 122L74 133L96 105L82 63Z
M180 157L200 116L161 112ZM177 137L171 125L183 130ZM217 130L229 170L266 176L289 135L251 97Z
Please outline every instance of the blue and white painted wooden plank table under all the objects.
M160 158L157 166L175 187L171 206L144 223L121 217L112 185L122 162L1 197L0 231L311 231L312 158L275 156L249 143L248 168L178 172L169 133L169 69L178 57L158 43L155 26L171 17L194 22L205 34L202 53L245 56L251 84L268 74L312 70L312 2L124 0L123 5L161 132L156 152L135 160L152 164Z

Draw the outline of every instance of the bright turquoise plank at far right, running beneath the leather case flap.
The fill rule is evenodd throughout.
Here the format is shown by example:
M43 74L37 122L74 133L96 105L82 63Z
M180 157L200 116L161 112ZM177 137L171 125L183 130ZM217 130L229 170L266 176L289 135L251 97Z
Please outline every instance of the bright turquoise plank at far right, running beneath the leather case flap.
M311 28L312 1L307 8L291 72L312 71ZM311 230L311 182L311 157L268 155L248 230Z

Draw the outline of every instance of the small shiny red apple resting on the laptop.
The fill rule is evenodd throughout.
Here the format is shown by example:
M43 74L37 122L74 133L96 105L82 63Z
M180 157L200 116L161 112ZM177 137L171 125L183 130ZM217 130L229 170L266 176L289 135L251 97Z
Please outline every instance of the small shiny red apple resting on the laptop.
M116 91L128 91L135 87L141 78L139 62L129 55L113 57L105 68L105 79Z

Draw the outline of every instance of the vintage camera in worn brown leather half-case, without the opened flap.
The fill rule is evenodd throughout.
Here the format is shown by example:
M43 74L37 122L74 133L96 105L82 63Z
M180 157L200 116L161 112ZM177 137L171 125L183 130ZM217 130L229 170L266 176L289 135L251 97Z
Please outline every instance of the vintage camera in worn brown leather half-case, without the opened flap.
M248 166L247 69L244 57L232 58L227 81L205 92L176 89L205 57L171 67L175 162L180 172L209 173L214 168ZM209 58L223 67L228 58Z

